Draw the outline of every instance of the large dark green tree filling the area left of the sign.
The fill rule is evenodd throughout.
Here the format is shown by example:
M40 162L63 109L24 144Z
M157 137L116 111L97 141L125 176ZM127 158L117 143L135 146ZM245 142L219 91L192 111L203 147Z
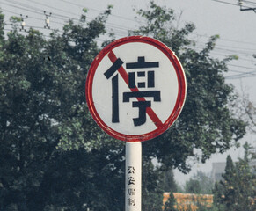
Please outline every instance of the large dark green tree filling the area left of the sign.
M84 102L109 12L70 21L49 40L15 28L5 40L1 15L1 211L123 207L123 143L96 127Z

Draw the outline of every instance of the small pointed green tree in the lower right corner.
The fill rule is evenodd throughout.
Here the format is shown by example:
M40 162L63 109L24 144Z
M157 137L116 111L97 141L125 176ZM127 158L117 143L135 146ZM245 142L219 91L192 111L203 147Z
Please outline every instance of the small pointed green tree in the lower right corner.
M227 163L223 180L215 186L214 205L220 211L252 211L256 209L256 177L249 165L249 147L246 143L245 157L233 164L230 156Z

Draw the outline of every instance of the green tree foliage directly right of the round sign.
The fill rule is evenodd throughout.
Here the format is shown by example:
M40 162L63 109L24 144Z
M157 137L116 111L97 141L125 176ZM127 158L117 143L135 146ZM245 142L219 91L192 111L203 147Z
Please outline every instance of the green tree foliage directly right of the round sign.
M179 119L165 134L143 142L143 155L157 157L167 168L187 172L186 160L195 156L194 148L201 149L204 162L216 151L229 149L232 141L245 135L244 121L238 120L228 107L236 98L232 86L226 84L223 77L231 58L219 61L210 57L218 36L211 37L200 52L194 51L190 47L194 41L188 38L194 25L175 27L172 10L151 2L150 10L138 13L145 18L146 25L129 34L146 35L164 42L178 55L187 76L187 101Z

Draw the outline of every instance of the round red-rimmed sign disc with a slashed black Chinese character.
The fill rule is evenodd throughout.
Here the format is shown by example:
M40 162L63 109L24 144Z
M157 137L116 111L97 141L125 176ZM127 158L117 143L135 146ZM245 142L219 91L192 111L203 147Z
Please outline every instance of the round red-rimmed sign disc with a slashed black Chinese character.
M128 37L107 46L92 62L86 97L106 133L123 141L145 141L164 133L179 116L186 78L163 43Z

